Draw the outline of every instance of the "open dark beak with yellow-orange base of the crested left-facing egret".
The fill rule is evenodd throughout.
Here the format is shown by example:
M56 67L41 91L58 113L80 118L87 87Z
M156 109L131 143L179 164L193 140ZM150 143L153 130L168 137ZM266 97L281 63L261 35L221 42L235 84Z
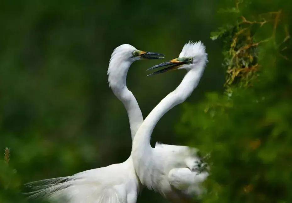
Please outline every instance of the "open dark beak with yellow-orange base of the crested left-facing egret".
M168 71L173 71L173 70L177 70L180 66L184 65L184 64L187 64L187 63L190 63L190 61L188 61L188 58L185 58L185 57L182 57L182 58L175 58L171 61L166 61L166 62L163 62L163 63L160 63L158 65L155 65L151 68L148 68L147 71L150 71L150 70L153 70L153 69L156 69L156 68L159 68L159 67L163 67L163 66L169 66L169 67L166 67L166 68L163 68L159 71L156 71L156 72L153 72L147 76L150 76L150 75L156 75L156 74L159 74L159 73L163 73L163 72L168 72Z

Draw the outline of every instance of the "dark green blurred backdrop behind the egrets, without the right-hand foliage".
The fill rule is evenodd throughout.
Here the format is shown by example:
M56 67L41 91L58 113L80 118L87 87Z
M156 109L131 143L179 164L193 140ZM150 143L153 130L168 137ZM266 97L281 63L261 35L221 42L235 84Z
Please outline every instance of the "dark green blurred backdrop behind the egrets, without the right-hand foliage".
M189 40L202 40L210 62L188 101L223 89L219 45L209 38L217 27L216 10L217 1L2 1L0 149L10 148L15 190L27 191L21 185L29 181L129 157L127 114L107 84L108 61L118 45L161 52L168 60ZM128 74L128 87L144 117L184 74L146 77L146 68L159 62L137 61ZM153 143L183 144L173 136L180 109L159 122ZM9 191L12 199L7 191L0 198L22 199ZM165 201L147 190L139 197L139 202L151 200Z

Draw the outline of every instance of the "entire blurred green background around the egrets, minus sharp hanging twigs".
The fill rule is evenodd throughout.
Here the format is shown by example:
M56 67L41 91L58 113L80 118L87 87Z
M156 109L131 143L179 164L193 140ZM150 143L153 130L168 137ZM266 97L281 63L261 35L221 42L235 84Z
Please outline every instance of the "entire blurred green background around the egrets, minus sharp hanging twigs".
M0 202L40 202L25 198L22 193L30 191L25 183L125 161L131 151L128 117L107 84L113 49L127 43L163 53L168 60L189 40L204 42L209 63L186 104L159 121L152 144L191 145L203 154L211 152L209 198L201 201L291 202L291 43L285 41L290 43L286 58L275 54L272 42L255 50L256 61L273 71L257 77L264 81L260 86L241 88L224 86L229 57L224 51L232 41L226 35L234 32L222 28L210 38L220 26L236 27L243 14L253 20L281 9L281 33L291 33L291 3L281 0L1 1L0 150L8 147L10 157L9 162L0 158ZM274 22L254 40L273 33L273 26ZM222 38L214 40L217 37ZM144 117L185 74L146 77L145 70L160 62L137 61L128 73L128 88ZM270 100L254 104L259 92L265 93L260 98ZM250 143L255 147L244 151ZM143 190L138 202L151 201L167 202Z

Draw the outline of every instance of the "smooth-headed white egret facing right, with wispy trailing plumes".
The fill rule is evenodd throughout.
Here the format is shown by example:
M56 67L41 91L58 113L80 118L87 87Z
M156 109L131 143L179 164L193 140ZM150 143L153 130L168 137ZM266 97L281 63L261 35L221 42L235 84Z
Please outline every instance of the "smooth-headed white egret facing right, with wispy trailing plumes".
M127 110L132 139L143 117L134 95L126 86L126 77L131 64L142 58L160 59L163 55L120 45L113 51L107 71L109 86ZM135 203L141 188L131 156L123 163L43 181L45 185L37 186L40 190L32 196L70 203ZM40 181L32 184L35 183Z

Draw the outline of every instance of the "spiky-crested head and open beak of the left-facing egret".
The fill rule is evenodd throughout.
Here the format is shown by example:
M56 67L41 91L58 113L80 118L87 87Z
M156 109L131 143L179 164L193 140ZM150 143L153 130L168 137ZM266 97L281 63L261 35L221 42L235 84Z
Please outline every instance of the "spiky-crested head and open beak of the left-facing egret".
M198 41L198 42L189 41L188 43L184 45L178 58L160 63L156 66L149 68L148 70L152 70L152 69L163 67L163 66L169 66L169 67L153 72L150 75L155 75L155 74L159 74L159 73L163 73L163 72L167 72L171 70L178 70L178 69L191 70L198 67L204 68L206 66L206 63L208 62L208 59L207 59L208 55L205 49L206 49L205 45L201 41Z

